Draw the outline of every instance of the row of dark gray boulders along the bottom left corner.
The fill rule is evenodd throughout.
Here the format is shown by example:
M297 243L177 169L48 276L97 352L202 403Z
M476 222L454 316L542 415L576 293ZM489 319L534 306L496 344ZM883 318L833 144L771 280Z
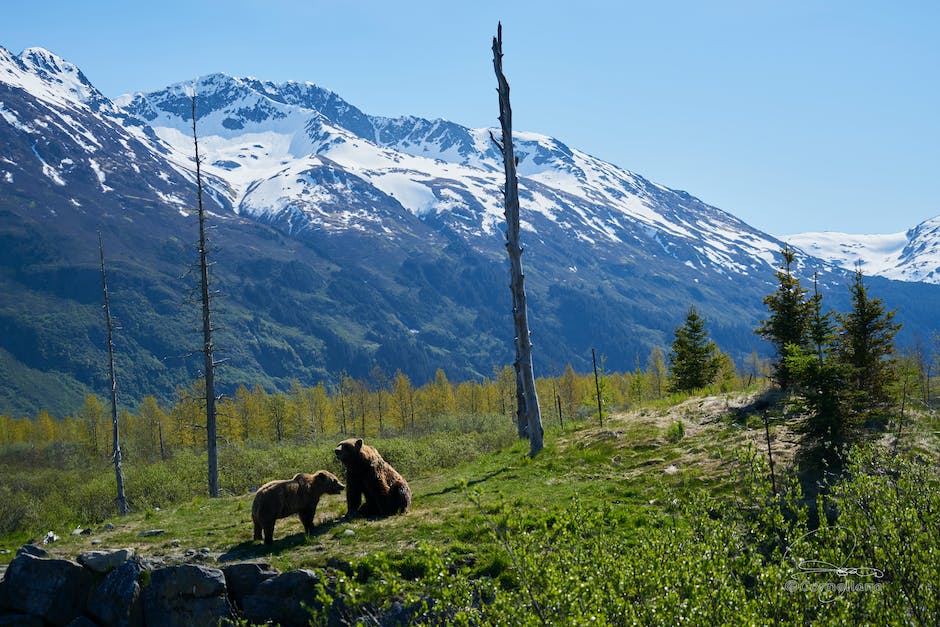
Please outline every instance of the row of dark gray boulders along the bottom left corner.
M0 580L0 626L198 626L246 619L288 627L308 624L307 608L339 623L336 608L324 608L318 594L320 577L259 563L164 566L133 549L89 551L73 562L25 545Z

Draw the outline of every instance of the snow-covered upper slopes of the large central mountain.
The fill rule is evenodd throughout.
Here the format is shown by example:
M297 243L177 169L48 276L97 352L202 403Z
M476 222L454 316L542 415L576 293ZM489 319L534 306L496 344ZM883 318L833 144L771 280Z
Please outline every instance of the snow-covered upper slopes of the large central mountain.
M119 102L185 159L192 152L191 90L199 98L207 170L226 181L238 213L282 220L292 232L370 222L391 232L391 216L369 206L400 205L500 254L492 242L503 220L503 174L491 129L370 116L313 84L221 74ZM523 228L543 243L573 239L616 258L631 242L692 268L732 274L766 271L780 248L772 237L688 194L551 137L518 133L516 144ZM368 202L335 210L349 196L348 185Z

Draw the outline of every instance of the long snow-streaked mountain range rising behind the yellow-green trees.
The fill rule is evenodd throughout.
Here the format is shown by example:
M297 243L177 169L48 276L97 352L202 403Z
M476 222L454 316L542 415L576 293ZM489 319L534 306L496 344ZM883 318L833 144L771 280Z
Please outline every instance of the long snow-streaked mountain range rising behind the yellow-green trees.
M489 129L369 115L310 83L211 75L115 102L74 65L0 48L0 411L105 389L97 234L131 399L198 374L192 100L223 298L219 383L287 387L402 369L420 383L512 359L502 164ZM519 120L517 120L517 124ZM612 369L669 344L691 304L740 360L782 246L688 193L517 133L536 369ZM910 237L913 259L929 225ZM832 306L846 273L815 257ZM927 335L940 288L882 281ZM840 300L841 299L841 300ZM892 300L894 299L894 300ZM130 400L127 402L131 402Z

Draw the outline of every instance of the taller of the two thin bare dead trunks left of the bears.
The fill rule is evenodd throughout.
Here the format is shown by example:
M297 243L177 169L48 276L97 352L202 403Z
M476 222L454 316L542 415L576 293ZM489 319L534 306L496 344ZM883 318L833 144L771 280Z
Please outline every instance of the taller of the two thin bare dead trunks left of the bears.
M219 447L216 440L215 361L212 345L212 308L209 291L209 262L206 248L206 211L202 205L202 164L196 135L196 96L193 95L193 147L196 151L196 194L199 201L199 273L202 296L202 353L206 372L206 451L209 458L209 496L219 496Z

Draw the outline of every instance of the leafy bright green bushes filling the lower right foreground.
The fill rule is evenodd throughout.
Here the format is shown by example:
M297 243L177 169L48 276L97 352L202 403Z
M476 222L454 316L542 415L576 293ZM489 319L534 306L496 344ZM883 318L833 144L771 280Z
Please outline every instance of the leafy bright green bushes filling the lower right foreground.
M393 595L409 622L428 625L930 624L940 615L934 463L855 451L829 497L838 518L823 516L818 529L797 481L775 497L761 456L745 453L740 470L745 485L732 498L677 498L666 525L625 524L612 504L481 504L497 554L371 556L355 592L340 594L350 617L381 616ZM831 568L810 572L802 559Z

